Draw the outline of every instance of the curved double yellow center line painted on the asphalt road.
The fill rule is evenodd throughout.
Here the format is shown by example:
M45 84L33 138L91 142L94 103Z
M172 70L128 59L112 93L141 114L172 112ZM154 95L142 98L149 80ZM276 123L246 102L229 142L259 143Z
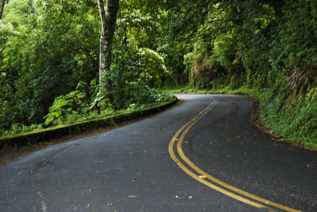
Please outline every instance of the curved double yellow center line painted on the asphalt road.
M246 191L240 190L236 187L233 187L229 184L226 184L212 176L210 176L208 173L204 172L203 170L201 170L200 168L198 168L195 164L193 164L183 153L182 150L182 142L184 140L185 135L187 134L187 132L189 131L189 129L195 124L197 123L202 117L204 117L204 115L206 113L208 113L215 105L216 105L217 101L213 101L206 109L204 109L202 112L200 112L195 118L193 118L191 121L187 122L182 128L180 128L177 133L173 136L169 147L168 147L168 151L171 155L171 158L174 160L174 162L185 172L187 173L189 176L191 176L192 178L194 178L195 180L201 182L202 184L207 185L208 187L217 190L227 196L230 196L236 200L239 200L243 203L247 203L249 205L252 205L254 207L257 208L267 208L271 211L275 211L274 209L272 209L271 207L273 206L273 208L278 208L278 209L282 209L285 211L290 211L290 212L295 212L298 210L292 209L292 208L288 208L286 206L271 202L269 200L263 199L261 197L255 196L253 194L250 194ZM187 128L186 128L187 127ZM183 132L183 133L182 133ZM182 134L181 134L182 133ZM180 135L180 137L178 137ZM175 141L177 142L177 152L179 157L184 161L184 164L187 164L188 166L191 167L191 169L195 170L197 174L193 173L191 170L189 170L175 155L174 150L173 150L173 146ZM204 176L204 178L199 178L199 176Z

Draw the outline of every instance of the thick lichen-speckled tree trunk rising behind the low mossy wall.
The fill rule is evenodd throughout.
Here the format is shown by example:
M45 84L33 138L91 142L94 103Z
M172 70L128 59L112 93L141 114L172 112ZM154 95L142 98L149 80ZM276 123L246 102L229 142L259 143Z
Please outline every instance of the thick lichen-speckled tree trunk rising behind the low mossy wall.
M102 92L107 92L109 89L109 82L105 78L105 73L110 71L112 42L119 10L119 1L107 0L105 10L103 0L98 0L101 18L99 85Z

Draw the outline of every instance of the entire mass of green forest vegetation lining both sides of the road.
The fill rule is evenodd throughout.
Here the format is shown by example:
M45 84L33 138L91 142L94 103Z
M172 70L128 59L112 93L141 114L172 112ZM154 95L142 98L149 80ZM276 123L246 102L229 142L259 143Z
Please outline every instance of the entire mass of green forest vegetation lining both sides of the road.
M142 108L169 93L245 93L260 100L267 127L317 148L316 28L309 0L121 0L100 92L98 1L6 0L0 132Z

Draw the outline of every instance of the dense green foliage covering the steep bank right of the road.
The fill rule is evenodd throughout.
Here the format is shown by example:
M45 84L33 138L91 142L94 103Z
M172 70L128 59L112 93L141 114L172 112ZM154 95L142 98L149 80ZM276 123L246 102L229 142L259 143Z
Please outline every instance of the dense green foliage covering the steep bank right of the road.
M183 18L166 30L171 40L191 44L184 57L191 86L213 91L243 86L261 100L261 118L275 132L317 147L315 1L199 2L176 5L196 20L186 33L169 34L171 26L186 24Z

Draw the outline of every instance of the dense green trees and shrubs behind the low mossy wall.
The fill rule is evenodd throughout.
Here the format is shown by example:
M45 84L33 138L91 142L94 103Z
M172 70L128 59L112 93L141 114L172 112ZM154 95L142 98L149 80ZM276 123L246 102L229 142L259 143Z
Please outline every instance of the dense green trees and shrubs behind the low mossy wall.
M18 127L29 131L28 126L44 122L50 126L107 115L170 97L154 90L168 72L164 59L154 51L153 38L158 40L160 34L158 17L142 14L141 5L121 1L115 57L107 76L111 89L103 94L98 83L96 1L8 1L0 22L3 134L10 129L16 133Z

